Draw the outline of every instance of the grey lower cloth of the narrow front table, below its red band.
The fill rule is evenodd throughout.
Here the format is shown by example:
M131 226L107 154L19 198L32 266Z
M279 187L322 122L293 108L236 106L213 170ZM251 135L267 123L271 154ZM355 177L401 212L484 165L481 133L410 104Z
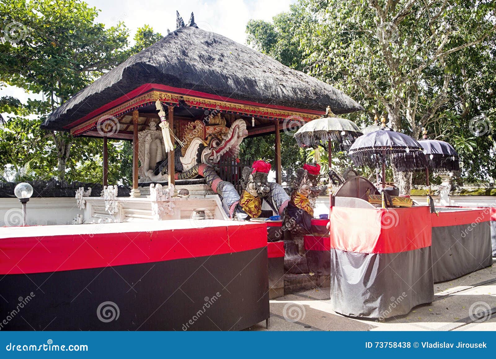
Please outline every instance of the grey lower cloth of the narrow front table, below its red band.
M431 247L400 253L331 249L331 307L350 316L389 318L434 300Z

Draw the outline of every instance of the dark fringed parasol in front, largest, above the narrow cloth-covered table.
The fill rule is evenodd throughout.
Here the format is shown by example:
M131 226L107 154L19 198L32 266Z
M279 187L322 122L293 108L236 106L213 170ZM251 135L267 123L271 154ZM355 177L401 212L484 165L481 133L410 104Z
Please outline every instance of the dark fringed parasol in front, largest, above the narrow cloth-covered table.
M348 154L357 166L382 166L382 189L386 181L386 164L401 172L413 172L427 167L424 148L410 136L386 131L385 119L382 129L360 136L351 145ZM382 207L384 208L384 190L382 191Z

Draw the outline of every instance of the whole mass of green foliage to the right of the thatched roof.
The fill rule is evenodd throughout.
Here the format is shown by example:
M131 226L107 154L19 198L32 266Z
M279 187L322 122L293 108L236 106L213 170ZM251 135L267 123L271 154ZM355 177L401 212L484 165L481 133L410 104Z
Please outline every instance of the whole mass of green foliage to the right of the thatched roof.
M357 124L378 113L414 138L426 127L457 147L464 176L484 178L496 176L494 132L474 136L469 125L486 115L496 128L495 11L492 0L300 0L278 15L294 26L278 27L276 16L272 26L250 22L247 32L256 48L278 60L293 54L286 65L301 61L359 100L368 113L348 115Z

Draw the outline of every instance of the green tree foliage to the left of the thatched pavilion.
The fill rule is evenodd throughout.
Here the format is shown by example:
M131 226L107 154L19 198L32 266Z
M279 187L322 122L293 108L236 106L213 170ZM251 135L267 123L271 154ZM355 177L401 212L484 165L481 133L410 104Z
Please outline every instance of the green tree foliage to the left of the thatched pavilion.
M44 131L40 124L71 95L162 36L144 25L129 48L124 23L106 28L95 22L98 11L81 0L0 2L0 23L20 24L14 34L0 33L0 86L43 95L26 104L11 96L0 98L0 113L16 116L0 127L4 172L29 165L59 180L101 182L102 140ZM129 167L128 157L125 142L109 141L109 183L129 181L129 168L122 168Z

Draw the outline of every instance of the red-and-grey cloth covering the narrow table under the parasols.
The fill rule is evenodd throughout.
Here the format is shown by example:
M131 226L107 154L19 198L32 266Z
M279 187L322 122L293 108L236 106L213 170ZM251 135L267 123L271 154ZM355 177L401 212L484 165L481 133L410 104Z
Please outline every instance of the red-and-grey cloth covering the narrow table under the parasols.
M434 300L428 207L332 207L330 213L334 311L388 318Z

